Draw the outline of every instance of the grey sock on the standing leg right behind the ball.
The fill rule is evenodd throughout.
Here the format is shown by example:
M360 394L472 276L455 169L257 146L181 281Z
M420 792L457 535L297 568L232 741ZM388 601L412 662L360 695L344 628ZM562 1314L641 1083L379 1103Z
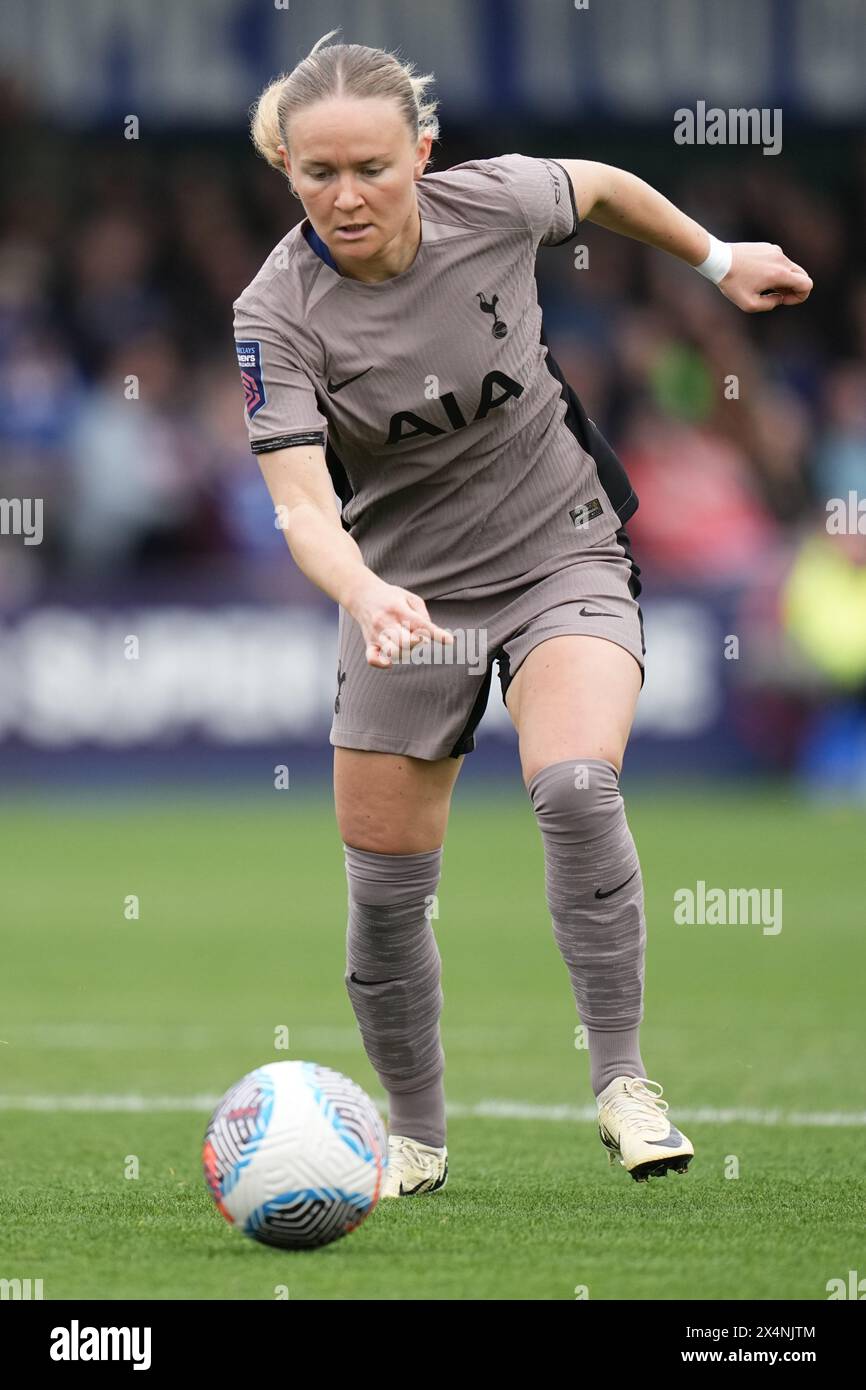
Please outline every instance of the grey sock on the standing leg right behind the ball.
M445 1144L441 958L430 905L442 849L382 855L343 844L349 883L346 988L388 1091L388 1130Z

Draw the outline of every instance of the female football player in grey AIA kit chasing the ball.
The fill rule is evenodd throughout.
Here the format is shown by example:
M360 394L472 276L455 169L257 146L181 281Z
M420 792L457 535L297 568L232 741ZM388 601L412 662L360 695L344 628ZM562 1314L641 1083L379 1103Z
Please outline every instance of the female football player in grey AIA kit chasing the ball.
M602 1143L635 1179L684 1172L692 1145L639 1051L644 888L619 787L644 680L637 498L546 350L535 253L584 220L680 257L746 311L801 303L812 282L778 246L723 245L606 164L503 154L425 174L431 76L325 46L334 33L254 108L256 147L306 215L236 300L235 338L291 553L339 605L345 979L389 1098L385 1190L448 1176L431 905L493 657Z

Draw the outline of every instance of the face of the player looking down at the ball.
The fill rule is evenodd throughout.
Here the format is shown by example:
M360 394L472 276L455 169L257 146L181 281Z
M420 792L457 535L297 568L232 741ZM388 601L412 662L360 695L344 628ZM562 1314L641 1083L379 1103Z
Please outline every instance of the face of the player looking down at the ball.
M417 245L414 181L431 143L416 146L398 104L379 97L332 97L292 117L286 168L338 263L375 265L413 235Z

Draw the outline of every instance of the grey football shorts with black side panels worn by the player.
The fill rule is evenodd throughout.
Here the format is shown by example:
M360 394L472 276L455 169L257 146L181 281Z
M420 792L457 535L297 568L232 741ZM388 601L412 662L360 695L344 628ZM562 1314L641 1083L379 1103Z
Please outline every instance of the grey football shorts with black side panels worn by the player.
M624 646L641 667L642 685L639 573L620 527L524 588L484 599L427 599L432 621L455 632L455 646L425 642L414 659L395 659L389 667L368 664L361 628L341 606L331 742L431 760L468 753L487 709L493 660L505 701L524 657L550 637L603 637Z

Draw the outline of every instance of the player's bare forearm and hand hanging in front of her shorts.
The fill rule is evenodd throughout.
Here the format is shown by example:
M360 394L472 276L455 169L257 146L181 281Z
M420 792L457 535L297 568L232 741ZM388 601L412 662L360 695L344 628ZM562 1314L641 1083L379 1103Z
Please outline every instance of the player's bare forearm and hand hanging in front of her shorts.
M400 648L432 637L450 644L424 599L386 584L366 564L343 530L321 445L297 445L257 455L275 516L299 570L341 603L364 635L370 666L388 667Z

